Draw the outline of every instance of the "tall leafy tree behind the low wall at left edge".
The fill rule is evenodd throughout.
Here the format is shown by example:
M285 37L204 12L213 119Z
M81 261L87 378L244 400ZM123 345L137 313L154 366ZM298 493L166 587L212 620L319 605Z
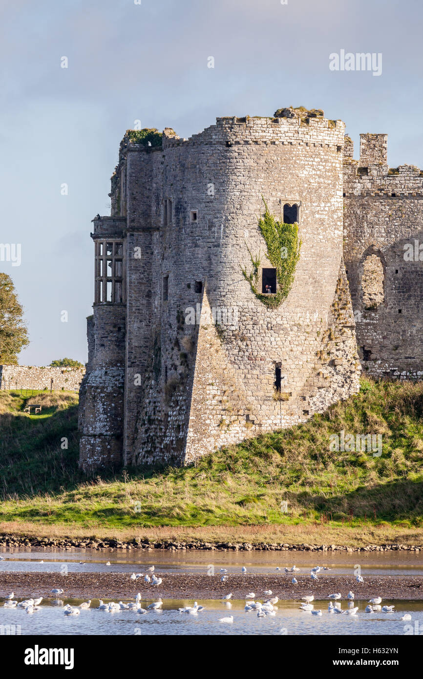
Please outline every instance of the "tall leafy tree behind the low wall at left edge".
M12 278L0 272L0 364L16 365L18 354L29 344L23 313Z

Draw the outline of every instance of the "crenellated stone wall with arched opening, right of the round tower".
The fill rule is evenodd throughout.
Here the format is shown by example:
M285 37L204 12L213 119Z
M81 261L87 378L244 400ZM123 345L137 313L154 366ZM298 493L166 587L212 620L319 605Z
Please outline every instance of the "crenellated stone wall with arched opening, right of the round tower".
M344 259L357 345L370 375L423 376L422 243L422 170L388 168L386 135L362 134L360 160L344 158ZM374 282L380 292L373 290L372 300L369 257L378 259L379 270Z

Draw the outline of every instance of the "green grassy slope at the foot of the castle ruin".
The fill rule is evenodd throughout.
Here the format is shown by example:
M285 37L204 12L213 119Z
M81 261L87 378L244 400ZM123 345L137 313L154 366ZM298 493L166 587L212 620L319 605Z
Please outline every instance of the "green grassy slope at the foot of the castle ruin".
M41 422L23 415L19 394L0 393L0 521L69 530L251 524L423 530L423 382L362 380L359 394L325 414L196 466L91 479L77 471L74 395L53 394L56 403L44 396L51 416ZM382 455L331 452L329 437L341 430L382 434ZM67 451L62 437L69 437Z

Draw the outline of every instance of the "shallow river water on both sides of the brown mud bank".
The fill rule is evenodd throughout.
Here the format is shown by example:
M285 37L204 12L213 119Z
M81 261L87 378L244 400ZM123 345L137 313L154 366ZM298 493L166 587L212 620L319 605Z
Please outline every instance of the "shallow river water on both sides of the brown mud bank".
M312 566L328 566L331 574L351 574L356 564L361 565L364 576L389 574L391 576L422 576L423 555L413 552L371 553L308 553L308 552L203 552L203 551L92 551L71 549L31 550L3 549L0 555L0 571L7 572L60 572L66 564L69 571L77 572L139 572L154 565L156 572L204 573L210 564L215 568L227 568L230 575L240 573L245 566L247 573L275 574L276 567L293 566L300 572L309 572ZM41 563L41 561L43 563ZM107 566L107 561L110 566ZM83 563L80 563L83 562ZM377 593L375 593L377 594ZM29 592L28 596L36 595ZM156 597L157 600L157 597ZM143 600L146 608L152 600ZM200 600L205 607L202 612L191 615L180 613L178 608L191 606L194 600L164 600L162 610L138 614L132 610L105 612L98 608L81 610L76 617L67 617L62 606L77 606L81 600L64 599L54 605L53 600L41 603L41 610L28 614L24 609L3 608L0 598L0 634L58 634L58 635L404 635L423 632L423 601L384 600L394 604L392 613L365 613L365 602L357 602L354 616L330 614L328 602L315 601L314 609L320 608L321 617L299 610L299 602L278 602L274 617L258 618L257 612L245 612L244 600L231 604L219 600ZM98 600L92 601L98 606ZM348 608L343 601L342 608ZM411 621L401 621L404 614ZM220 622L222 617L233 616L232 623Z

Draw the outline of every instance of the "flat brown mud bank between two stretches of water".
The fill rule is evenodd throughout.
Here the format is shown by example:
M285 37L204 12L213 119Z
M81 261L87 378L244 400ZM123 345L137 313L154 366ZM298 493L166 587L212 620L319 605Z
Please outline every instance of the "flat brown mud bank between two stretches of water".
M143 600L162 599L221 599L229 592L232 598L245 600L253 592L263 600L263 591L272 590L280 600L301 599L313 594L316 600L325 599L329 594L339 592L346 600L348 591L354 592L356 601L367 601L374 596L383 600L422 600L423 578L420 576L375 576L365 577L364 583L357 583L354 576L321 576L310 581L309 575L297 575L298 585L291 583L292 575L230 574L222 583L219 575L207 574L163 574L160 587L153 587L142 578L130 580L128 574L120 573L60 573L0 572L0 598L14 591L15 598L31 595L52 596L51 590L61 588L61 599L131 599L141 592Z

